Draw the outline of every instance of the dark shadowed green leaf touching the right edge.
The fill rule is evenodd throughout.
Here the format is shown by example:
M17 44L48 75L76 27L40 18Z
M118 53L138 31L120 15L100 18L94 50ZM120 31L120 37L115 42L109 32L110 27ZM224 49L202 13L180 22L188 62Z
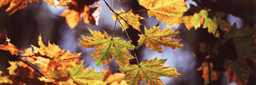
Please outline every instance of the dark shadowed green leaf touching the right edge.
M233 39L236 47L236 54L242 59L251 59L256 61L256 42L254 37L256 35L256 28L245 26L237 29L236 24L233 25L225 35L226 40Z

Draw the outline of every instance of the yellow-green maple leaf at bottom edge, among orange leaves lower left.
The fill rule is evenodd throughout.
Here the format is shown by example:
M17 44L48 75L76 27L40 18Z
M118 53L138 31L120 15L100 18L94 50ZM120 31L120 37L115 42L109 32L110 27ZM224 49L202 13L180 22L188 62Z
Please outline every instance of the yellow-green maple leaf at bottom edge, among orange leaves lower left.
M73 68L69 67L68 71L70 72L70 78L81 85L104 85L107 83L99 81L104 75L100 72L95 72L93 68L89 70L84 69L82 64L73 66Z

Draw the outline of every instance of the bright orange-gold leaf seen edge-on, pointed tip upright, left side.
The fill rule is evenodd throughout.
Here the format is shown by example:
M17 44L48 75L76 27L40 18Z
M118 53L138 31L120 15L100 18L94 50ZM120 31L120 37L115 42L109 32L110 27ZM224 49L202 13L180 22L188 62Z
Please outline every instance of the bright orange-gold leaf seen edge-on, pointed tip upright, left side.
M38 37L38 45L40 45L40 48L35 47L34 45L31 45L36 52L35 54L40 55L41 57L55 60L55 61L61 61L61 62L70 62L78 57L80 57L81 53L78 54L70 54L69 50L64 51L61 50L61 48L58 47L58 45L50 44L50 41L48 42L48 47L44 45L41 35Z

